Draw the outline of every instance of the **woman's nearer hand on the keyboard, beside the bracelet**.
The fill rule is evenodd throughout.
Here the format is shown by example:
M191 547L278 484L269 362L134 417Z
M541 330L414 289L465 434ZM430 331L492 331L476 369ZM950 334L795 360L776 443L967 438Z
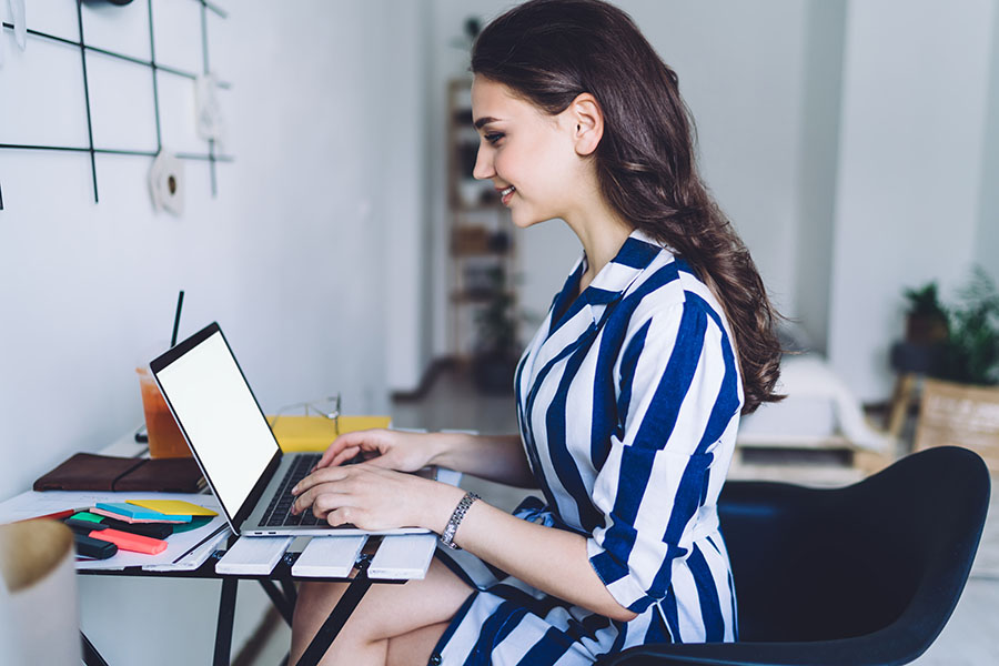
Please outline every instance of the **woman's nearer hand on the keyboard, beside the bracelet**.
M326 466L292 490L292 513L312 508L330 525L353 524L362 529L425 527L440 532L464 491L372 463Z

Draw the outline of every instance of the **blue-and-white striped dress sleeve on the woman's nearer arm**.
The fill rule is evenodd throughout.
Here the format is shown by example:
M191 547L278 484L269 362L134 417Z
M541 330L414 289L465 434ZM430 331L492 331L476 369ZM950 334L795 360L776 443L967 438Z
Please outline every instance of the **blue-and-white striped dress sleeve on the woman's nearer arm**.
M593 490L604 524L587 552L614 598L642 613L690 552L713 451L738 423L741 389L720 319L694 297L648 317L618 364L618 426Z

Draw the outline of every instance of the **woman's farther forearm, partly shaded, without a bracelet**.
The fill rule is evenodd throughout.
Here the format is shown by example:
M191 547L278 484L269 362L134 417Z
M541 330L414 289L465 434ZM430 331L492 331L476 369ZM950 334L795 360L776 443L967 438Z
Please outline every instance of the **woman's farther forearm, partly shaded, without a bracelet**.
M437 453L432 462L488 481L536 487L519 435L433 433Z

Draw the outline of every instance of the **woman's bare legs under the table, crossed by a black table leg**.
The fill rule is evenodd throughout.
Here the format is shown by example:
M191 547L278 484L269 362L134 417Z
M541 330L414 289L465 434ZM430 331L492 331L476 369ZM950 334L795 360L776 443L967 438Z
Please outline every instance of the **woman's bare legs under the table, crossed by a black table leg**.
M346 583L301 585L290 665L309 647L346 587ZM437 559L431 562L423 581L372 585L320 664L383 666L390 656L393 663L404 657L413 664L426 664L448 620L471 593L472 588ZM396 638L397 645L390 650L390 642ZM406 652L400 649L403 646Z

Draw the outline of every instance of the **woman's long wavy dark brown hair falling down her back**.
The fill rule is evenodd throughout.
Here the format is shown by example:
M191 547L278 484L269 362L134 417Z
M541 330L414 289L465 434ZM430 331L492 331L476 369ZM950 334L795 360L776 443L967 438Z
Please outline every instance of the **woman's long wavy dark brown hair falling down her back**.
M605 199L684 258L722 303L743 375L743 413L780 400L779 315L697 172L694 121L677 75L630 17L601 0L531 0L482 31L472 71L553 115L581 93L596 98L604 134L594 157Z

